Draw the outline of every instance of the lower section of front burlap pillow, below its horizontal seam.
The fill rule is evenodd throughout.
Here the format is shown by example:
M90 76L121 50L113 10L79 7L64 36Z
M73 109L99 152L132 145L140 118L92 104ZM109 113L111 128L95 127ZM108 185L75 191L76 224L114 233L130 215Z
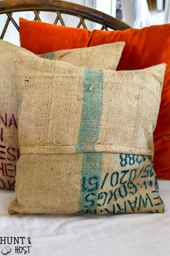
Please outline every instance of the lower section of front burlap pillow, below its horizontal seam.
M128 157L122 167L119 154L102 153L99 176L91 168L82 174L83 158L80 153L23 155L17 165L17 200L9 213L164 212L151 158L130 155L135 163L130 165Z

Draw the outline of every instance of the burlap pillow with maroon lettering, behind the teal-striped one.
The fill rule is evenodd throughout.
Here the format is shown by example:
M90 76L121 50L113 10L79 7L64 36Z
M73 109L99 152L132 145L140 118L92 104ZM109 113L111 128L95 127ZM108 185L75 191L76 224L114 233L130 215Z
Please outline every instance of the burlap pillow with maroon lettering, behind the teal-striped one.
M66 54L66 51L64 60L71 61L76 66L86 66L87 64L88 67L93 68L116 69L124 45L125 43L120 42L95 46L92 47L93 51L91 51L91 48L84 48L82 51L81 49L76 49L72 50L73 54L71 54L72 51ZM19 106L17 85L19 85L19 81L15 62L18 61L20 63L20 55L24 52L27 52L27 50L12 46L12 44L0 40L0 187L6 189L14 189L16 163L19 158L17 140L17 111ZM34 56L30 52L27 52L27 54ZM71 58L72 56L73 58ZM61 57L59 51L56 59L61 59ZM32 77L32 74L29 74L25 78L24 82L26 84L29 77Z

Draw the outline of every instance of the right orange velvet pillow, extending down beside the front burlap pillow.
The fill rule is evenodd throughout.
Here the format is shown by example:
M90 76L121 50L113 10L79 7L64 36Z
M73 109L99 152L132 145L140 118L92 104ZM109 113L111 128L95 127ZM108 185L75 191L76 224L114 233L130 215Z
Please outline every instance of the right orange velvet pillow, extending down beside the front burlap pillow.
M154 132L154 169L159 179L170 179L170 24L123 31L94 30L88 46L125 41L117 69L143 69L166 63L161 108Z

